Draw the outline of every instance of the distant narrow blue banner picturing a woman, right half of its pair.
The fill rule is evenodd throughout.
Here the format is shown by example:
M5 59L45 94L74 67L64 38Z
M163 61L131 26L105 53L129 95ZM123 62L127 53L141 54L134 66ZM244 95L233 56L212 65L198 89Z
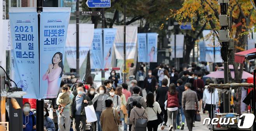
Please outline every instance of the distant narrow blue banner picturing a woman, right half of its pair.
M147 33L147 62L157 62L157 33Z

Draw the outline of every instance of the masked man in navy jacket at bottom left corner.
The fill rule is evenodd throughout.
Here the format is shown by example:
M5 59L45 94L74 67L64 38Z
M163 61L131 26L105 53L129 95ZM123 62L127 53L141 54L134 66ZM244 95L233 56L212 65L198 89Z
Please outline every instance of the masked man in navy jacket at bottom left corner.
M31 105L26 102L23 105L23 131L35 131L36 129L36 117L32 111L30 111Z

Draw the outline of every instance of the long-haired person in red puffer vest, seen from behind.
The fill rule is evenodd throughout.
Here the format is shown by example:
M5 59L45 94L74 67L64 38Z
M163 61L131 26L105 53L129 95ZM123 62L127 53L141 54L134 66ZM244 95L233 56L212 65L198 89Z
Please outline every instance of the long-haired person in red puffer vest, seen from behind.
M176 119L179 108L178 92L174 83L171 83L167 92L167 114L168 124L170 124L170 131L176 129Z

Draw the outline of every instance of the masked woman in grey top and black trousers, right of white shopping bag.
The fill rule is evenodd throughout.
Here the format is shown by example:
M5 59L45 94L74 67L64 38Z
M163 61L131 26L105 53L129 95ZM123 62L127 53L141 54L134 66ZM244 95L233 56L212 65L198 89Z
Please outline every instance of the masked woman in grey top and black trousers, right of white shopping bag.
M102 131L100 127L100 115L102 111L106 109L105 100L107 100L107 98L109 97L109 95L105 93L106 93L106 87L101 85L99 87L98 94L96 94L92 100L93 107L95 109L95 113L98 119L97 121L98 131Z

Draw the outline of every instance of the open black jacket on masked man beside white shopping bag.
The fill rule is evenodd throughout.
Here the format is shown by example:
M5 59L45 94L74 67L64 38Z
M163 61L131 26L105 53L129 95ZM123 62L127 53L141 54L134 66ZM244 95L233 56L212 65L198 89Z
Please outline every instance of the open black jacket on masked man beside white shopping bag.
M75 110L75 106L76 106L75 98L76 98L76 96L73 98L72 103L70 105L70 116L73 116L73 117L75 116L75 111L76 111ZM84 103L84 100L87 100L88 104ZM83 95L81 115L85 115L84 107L87 107L87 105L92 105L92 104L93 104L93 102L91 102L91 99L87 95Z

